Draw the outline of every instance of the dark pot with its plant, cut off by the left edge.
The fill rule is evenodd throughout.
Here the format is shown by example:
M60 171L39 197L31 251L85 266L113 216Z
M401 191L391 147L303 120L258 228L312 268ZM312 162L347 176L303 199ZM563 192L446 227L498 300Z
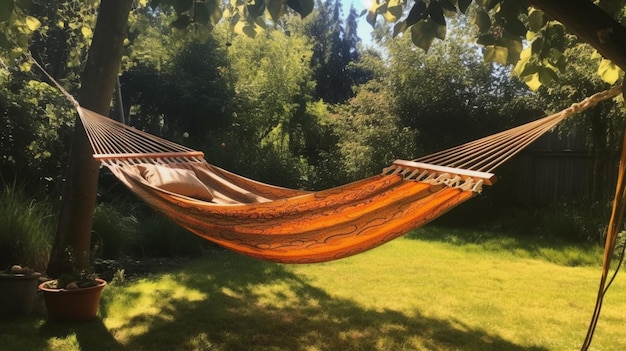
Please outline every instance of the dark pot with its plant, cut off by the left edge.
M40 277L39 272L20 265L0 271L0 317L29 314L35 305Z

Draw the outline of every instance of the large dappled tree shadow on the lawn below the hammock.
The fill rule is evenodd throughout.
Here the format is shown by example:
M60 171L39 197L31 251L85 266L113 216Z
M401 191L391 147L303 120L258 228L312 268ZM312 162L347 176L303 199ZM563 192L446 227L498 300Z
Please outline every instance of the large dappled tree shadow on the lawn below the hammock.
M129 306L146 296L152 296L155 304L150 306L152 312L140 313L108 331L139 330L125 337L124 346L101 324L92 326L96 328L92 335L108 350L544 350L515 345L458 320L425 317L419 311L366 309L332 297L286 266L227 252L194 262L169 278L178 285L171 291L126 295ZM177 289L203 297L176 298ZM114 295L103 300L104 316ZM77 335L81 349L90 350L94 344L98 349L98 342Z

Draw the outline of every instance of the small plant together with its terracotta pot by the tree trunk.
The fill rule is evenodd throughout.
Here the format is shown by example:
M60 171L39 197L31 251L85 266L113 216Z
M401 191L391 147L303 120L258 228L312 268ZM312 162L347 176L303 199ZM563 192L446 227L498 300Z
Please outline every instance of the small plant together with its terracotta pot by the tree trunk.
M48 319L73 322L94 319L98 313L102 290L106 285L107 282L96 277L92 271L78 268L62 274L57 279L39 284L48 311Z

